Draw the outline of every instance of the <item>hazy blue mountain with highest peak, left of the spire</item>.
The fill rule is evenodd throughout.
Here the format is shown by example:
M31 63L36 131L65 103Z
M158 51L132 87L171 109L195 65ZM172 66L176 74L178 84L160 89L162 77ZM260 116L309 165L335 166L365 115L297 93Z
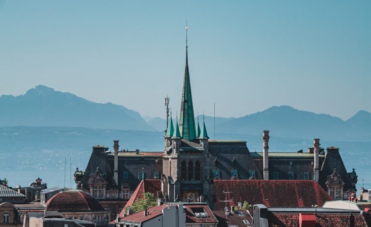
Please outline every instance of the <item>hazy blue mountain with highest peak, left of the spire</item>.
M38 85L25 95L0 97L0 126L65 126L154 130L138 112L99 104Z

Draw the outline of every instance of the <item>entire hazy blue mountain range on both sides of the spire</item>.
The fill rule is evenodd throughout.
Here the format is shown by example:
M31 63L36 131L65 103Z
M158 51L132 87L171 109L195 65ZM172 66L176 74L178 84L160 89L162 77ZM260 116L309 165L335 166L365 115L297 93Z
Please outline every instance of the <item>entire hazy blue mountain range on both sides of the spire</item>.
M0 96L1 126L63 126L94 129L163 131L166 120L146 120L136 111L112 103L99 104L71 93L38 85L24 95ZM360 111L348 120L328 114L274 106L242 117L199 116L205 119L209 136L222 134L261 135L268 129L281 138L371 142L371 113ZM197 120L197 119L195 119ZM215 120L215 129L214 129ZM200 125L202 122L200 122Z

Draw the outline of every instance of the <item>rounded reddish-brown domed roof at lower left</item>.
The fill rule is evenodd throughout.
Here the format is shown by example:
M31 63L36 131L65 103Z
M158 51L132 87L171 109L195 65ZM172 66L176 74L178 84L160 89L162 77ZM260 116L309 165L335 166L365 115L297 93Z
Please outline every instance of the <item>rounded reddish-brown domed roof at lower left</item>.
M61 191L46 202L47 211L86 212L105 211L99 202L90 194L77 189Z

